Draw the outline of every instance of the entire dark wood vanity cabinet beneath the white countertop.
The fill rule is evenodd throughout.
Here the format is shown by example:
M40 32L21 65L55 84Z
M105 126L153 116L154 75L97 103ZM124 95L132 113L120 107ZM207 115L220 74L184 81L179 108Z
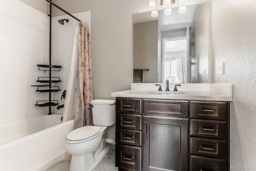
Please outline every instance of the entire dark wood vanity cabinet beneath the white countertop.
M119 171L227 171L229 101L116 97Z

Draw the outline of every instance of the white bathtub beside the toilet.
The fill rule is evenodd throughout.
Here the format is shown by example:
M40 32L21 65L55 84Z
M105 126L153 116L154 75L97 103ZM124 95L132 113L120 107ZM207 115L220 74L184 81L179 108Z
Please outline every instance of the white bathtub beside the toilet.
M74 120L42 115L0 125L0 171L44 171L64 158L64 138Z

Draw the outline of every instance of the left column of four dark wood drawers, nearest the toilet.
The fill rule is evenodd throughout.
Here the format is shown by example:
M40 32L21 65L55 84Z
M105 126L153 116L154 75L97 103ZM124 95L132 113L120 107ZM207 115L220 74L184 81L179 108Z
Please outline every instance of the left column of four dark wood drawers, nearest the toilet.
M142 168L142 99L116 97L116 167Z

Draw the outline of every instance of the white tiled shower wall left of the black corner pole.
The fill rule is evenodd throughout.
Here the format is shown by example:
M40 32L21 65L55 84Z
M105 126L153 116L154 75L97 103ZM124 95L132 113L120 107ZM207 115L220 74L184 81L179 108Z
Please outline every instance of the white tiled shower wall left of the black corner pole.
M48 16L18 0L0 2L0 122L44 112L43 99L31 85L42 76L36 64L47 63Z

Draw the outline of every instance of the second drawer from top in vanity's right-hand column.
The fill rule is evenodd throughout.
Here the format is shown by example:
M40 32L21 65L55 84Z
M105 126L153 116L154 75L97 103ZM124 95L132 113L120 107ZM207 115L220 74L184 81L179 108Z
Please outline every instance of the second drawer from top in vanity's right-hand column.
M190 119L190 135L226 139L228 128L226 121Z

